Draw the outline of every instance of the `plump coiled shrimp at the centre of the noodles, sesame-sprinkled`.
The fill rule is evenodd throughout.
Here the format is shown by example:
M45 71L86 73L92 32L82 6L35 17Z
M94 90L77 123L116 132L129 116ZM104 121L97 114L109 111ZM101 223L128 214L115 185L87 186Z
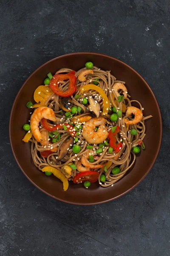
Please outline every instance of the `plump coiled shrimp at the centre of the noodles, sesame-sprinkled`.
M99 144L107 139L108 131L105 127L106 119L103 117L94 117L83 125L82 136L88 143ZM94 131L99 126L97 131Z

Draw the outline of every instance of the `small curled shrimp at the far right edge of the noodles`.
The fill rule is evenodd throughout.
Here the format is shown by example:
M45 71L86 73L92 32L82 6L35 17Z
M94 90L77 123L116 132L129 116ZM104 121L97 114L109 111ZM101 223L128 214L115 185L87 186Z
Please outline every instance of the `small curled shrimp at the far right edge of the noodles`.
M125 124L134 125L134 124L137 124L138 122L140 122L142 120L143 113L139 108L128 107L127 111L126 111L126 116L129 116L131 114L133 114L135 116L134 119L133 120L127 120L127 118L125 118Z

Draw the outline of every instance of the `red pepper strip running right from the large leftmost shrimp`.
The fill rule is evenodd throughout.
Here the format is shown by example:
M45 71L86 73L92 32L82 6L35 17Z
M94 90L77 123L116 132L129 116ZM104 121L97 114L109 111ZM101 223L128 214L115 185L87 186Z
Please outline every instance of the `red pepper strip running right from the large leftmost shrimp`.
M47 119L45 119L45 118L42 118L42 119L41 119L41 122L42 122L43 127L44 127L45 130L47 130L47 131L55 131L55 130L59 130L59 129L62 130L62 129L63 129L63 127L62 127L63 124L59 124L59 125L54 126L54 125L49 124L49 122L48 122ZM74 137L74 136L76 135L76 131L73 130L74 127L73 127L72 125L67 124L67 123L65 123L65 125L66 125L66 127L67 127L67 131L69 132L69 134L70 134L72 137ZM58 129L57 129L57 128L58 128Z

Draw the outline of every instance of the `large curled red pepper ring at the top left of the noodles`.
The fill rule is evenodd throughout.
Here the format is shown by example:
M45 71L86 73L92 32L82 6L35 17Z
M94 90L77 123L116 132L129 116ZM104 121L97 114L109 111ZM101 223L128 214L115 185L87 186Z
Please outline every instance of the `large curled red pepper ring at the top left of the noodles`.
M73 93L75 93L75 91L77 90L77 87L76 87L77 78L74 76L74 74L75 74L75 71L72 70L70 73L67 73L67 74L54 75L50 81L51 90L53 90L54 93L56 93L57 95L62 96L62 97L69 97L69 96L73 95ZM59 89L58 82L64 81L67 79L69 79L70 84L68 86L68 90L63 92L62 90Z

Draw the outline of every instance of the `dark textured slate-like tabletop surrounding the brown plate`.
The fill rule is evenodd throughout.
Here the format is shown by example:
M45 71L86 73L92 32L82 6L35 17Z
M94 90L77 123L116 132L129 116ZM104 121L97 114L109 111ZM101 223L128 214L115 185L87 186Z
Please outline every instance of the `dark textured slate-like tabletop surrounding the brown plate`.
M0 256L170 255L168 2L0 1ZM139 72L159 102L164 131L142 183L89 207L35 188L18 168L8 136L11 106L26 78L51 58L77 51L111 55Z

